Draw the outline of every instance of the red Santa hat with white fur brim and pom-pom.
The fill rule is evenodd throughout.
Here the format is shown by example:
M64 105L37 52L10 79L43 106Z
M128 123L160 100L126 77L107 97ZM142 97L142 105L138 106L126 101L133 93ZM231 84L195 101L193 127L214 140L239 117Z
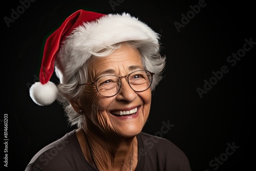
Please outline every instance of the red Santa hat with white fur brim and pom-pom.
M50 81L54 70L60 83L67 83L92 52L118 42L143 39L158 44L159 35L129 13L74 12L46 40L40 82L31 86L30 97L38 105L53 103L58 93Z

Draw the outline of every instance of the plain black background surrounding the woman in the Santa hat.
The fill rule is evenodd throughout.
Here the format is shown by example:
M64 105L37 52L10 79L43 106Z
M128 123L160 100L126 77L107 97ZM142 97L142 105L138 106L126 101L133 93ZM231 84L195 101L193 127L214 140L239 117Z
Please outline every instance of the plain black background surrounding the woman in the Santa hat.
M57 102L36 105L29 97L29 87L38 81L46 38L78 9L129 12L162 35L162 53L167 56L165 77L154 92L144 132L174 142L187 155L193 171L253 168L255 43L236 65L227 62L232 53L241 52L245 39L256 42L253 1L205 0L205 7L190 17L180 32L174 22L181 23L181 14L186 15L191 11L189 6L200 1L112 1L116 6L110 2L34 1L9 27L5 18L11 18L11 9L17 11L22 4L2 3L4 95L0 119L4 135L3 119L8 114L9 138L5 170L24 170L41 147L74 129L68 126ZM222 66L227 66L228 72L200 98L197 88L204 89L204 80L213 79L212 72L220 71ZM51 80L58 81L55 76ZM174 126L161 132L163 122ZM227 143L239 148L232 155L225 155ZM228 158L222 158L224 161L218 167L209 165L215 157L225 156Z

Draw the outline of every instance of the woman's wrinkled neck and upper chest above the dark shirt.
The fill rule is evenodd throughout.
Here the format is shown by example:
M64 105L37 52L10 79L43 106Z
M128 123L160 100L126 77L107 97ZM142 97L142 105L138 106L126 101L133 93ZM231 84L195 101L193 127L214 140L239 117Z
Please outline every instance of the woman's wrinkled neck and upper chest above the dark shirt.
M84 137L83 145L80 144L85 148L84 156L99 170L131 170L135 165L135 137L103 136L87 129L80 132Z

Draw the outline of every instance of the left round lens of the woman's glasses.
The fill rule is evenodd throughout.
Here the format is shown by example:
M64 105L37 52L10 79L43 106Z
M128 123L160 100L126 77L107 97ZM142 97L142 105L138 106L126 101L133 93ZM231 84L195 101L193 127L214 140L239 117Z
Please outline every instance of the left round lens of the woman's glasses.
M114 96L120 89L120 80L114 75L100 77L97 81L98 92L102 96Z

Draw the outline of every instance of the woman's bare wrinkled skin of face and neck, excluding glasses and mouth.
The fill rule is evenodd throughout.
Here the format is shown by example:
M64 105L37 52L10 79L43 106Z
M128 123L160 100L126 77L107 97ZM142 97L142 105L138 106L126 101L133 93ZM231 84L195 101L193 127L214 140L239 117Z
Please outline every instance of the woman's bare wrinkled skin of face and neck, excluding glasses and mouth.
M88 71L90 81L108 74L127 75L133 71L144 69L137 49L125 44L113 54L103 58L92 58ZM137 164L136 135L148 118L151 106L151 89L135 92L125 78L121 79L119 93L113 97L101 96L92 84L86 86L80 100L73 104L75 110L82 110L84 115L83 130L93 150L93 158L97 167L102 170L130 170L131 156L134 156L133 167ZM114 116L112 111L127 111L138 108L136 115ZM89 148L86 139L79 130L77 137L83 149L84 156L89 161Z

